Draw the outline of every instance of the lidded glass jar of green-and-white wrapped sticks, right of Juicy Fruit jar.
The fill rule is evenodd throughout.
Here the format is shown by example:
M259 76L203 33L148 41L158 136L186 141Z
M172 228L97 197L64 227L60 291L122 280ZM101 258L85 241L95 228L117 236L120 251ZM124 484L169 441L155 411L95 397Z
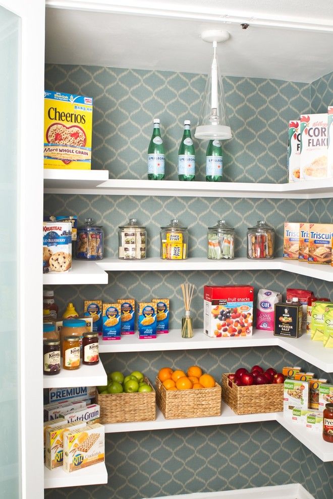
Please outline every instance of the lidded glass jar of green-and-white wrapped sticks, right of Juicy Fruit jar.
M234 245L235 229L229 227L225 220L217 220L217 224L208 227L207 232L207 258L232 260L235 258Z

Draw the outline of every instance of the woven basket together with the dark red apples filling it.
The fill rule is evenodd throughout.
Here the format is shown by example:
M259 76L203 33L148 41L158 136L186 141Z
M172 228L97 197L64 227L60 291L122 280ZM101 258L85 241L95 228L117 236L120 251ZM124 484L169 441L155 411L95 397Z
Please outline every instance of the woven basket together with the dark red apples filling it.
M222 375L222 399L236 414L283 411L285 377L272 367L240 367Z

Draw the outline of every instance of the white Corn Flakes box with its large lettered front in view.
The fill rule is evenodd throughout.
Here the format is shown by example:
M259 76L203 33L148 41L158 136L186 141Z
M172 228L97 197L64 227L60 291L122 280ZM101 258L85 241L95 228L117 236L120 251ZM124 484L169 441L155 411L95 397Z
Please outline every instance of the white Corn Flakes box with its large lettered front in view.
M301 116L300 177L327 177L327 114Z

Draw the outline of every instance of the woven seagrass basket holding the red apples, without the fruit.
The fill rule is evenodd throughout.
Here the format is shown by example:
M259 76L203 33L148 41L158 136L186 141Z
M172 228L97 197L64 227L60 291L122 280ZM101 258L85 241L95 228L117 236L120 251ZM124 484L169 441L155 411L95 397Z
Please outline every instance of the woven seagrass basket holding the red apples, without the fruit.
M283 383L238 387L229 380L229 374L227 372L222 375L222 400L236 414L283 411Z

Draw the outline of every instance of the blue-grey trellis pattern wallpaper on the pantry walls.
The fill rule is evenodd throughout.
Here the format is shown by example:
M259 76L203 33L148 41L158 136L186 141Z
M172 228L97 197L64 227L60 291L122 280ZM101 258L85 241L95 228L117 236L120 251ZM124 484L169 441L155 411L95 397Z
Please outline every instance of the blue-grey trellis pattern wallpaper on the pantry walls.
M184 119L192 135L205 76L114 68L54 66L45 69L45 88L93 97L92 168L108 169L110 178L146 178L146 153L152 119L159 117L167 152L167 179L177 179L177 154ZM287 122L302 112L326 105L329 75L313 85L224 77L233 139L224 144L227 181L285 182ZM325 90L323 90L325 89ZM321 95L325 97L321 99ZM313 101L312 101L313 96ZM333 100L333 99L332 99ZM196 179L204 179L206 144L194 139ZM331 221L332 201L220 198L158 198L46 195L45 214L77 214L79 223L93 217L105 229L105 255L116 257L118 226L135 217L148 231L148 256L159 255L160 226L179 218L189 227L189 256L205 256L206 229L224 218L236 229L236 257L246 255L246 228L265 219L276 229L275 255L282 252L283 222ZM194 326L202 327L204 284L254 284L310 288L330 296L330 283L278 271L114 272L107 285L54 286L61 310L73 301L170 297L171 327L183 314L180 284L195 284ZM186 368L198 363L217 380L240 365L301 365L328 377L278 347L140 352L102 355L106 370L141 369L153 380L163 365ZM276 422L183 428L106 435L108 483L46 490L50 499L142 499L160 495L228 490L300 482L316 499L333 496L332 464L322 463Z

